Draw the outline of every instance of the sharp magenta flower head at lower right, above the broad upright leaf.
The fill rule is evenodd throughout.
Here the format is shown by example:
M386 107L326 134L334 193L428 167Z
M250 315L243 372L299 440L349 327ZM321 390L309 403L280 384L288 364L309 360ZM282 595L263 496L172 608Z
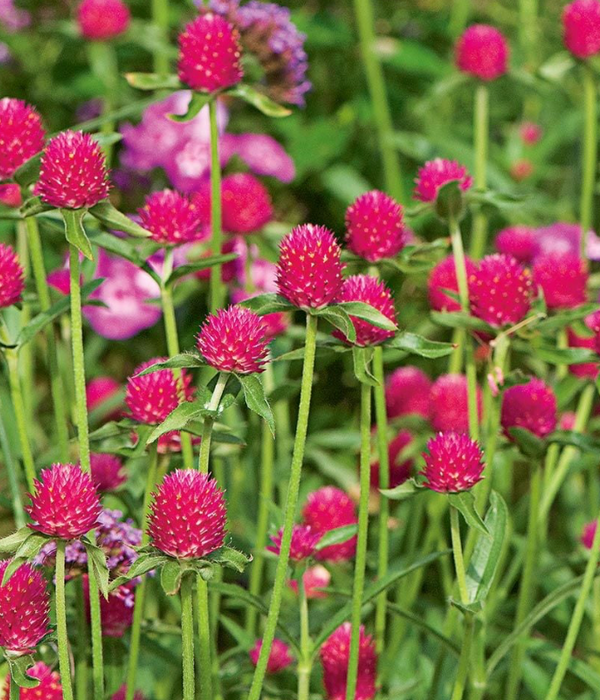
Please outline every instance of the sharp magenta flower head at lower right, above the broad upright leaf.
M425 486L440 493L468 491L483 478L481 448L464 433L438 433L423 453Z

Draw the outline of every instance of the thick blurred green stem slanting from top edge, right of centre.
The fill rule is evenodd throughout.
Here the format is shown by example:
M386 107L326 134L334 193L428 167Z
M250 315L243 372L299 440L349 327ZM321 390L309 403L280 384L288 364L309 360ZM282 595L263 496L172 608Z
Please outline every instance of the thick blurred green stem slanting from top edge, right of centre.
M367 85L373 107L375 128L379 142L379 154L383 165L386 189L392 197L404 199L404 185L398 155L392 146L394 127L388 103L385 77L375 53L374 13L371 0L354 0L356 26Z

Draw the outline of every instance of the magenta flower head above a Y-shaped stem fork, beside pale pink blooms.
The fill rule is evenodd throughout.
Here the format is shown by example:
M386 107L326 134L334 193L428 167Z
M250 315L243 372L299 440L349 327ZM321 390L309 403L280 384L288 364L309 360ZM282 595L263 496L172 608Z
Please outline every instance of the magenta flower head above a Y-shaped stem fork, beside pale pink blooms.
M203 236L198 208L179 192L153 192L138 213L152 240L162 245L188 243Z

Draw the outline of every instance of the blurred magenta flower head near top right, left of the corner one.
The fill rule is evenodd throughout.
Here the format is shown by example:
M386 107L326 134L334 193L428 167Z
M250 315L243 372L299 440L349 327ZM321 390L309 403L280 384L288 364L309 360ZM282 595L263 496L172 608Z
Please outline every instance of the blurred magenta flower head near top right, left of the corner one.
M508 67L506 37L495 27L474 24L463 32L456 44L456 66L480 80L496 80Z

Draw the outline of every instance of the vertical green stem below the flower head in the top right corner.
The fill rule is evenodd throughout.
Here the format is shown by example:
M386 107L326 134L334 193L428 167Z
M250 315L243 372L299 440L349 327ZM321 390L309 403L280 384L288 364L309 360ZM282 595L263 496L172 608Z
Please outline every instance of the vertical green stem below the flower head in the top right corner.
M591 66L583 66L583 163L581 180L581 255L587 259L586 243L588 231L594 223L594 187L596 184L597 148L598 148L598 104L596 97L596 78Z

